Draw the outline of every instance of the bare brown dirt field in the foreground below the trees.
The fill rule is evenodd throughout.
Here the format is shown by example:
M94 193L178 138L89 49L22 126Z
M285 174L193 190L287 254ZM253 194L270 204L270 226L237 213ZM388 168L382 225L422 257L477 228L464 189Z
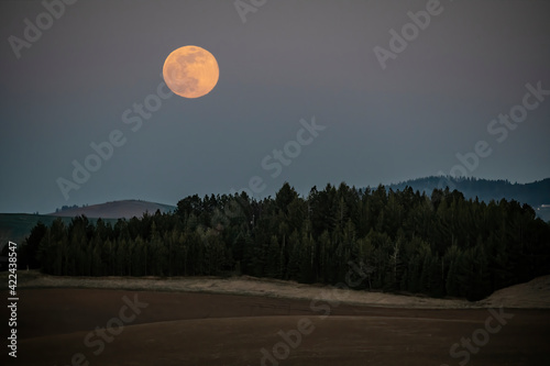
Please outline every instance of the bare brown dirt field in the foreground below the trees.
M121 315L121 308L124 297L135 296L147 307L118 329L111 320L131 318L133 312L124 308ZM496 330L487 309L381 308L338 303L338 296L332 303L318 301L317 308L311 300L111 289L20 289L19 297L18 358L6 359L4 345L1 365L65 366L78 353L82 359L75 358L75 365L106 366L452 366L468 354L462 366L550 364L549 310L504 310L514 318ZM322 317L324 310L330 315ZM487 319L494 334L483 331ZM94 332L107 324L118 333L106 334L111 342ZM298 324L308 333L300 342L295 336ZM287 343L296 342L296 347L285 346L279 331L290 332L294 337ZM482 346L472 344L472 352L460 346L460 357L450 356L454 343L475 336ZM262 363L262 350L273 355L274 346L280 359Z

